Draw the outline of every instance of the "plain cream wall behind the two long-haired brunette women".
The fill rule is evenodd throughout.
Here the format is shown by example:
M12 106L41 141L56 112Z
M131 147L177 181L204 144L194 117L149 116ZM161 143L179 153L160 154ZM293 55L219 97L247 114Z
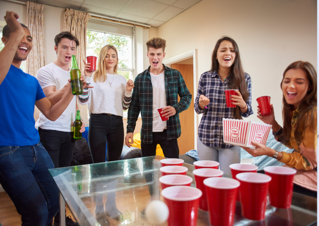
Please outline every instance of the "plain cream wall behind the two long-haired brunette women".
M159 26L167 41L166 57L197 51L197 76L211 67L216 41L228 35L237 42L244 71L252 79L252 107L269 95L281 123L280 81L285 68L297 60L317 68L317 5L315 0L203 0Z

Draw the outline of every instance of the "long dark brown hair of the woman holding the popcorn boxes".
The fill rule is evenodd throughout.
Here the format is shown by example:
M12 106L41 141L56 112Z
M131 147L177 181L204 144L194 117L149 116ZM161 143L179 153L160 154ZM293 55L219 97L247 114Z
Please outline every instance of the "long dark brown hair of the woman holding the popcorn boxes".
M280 88L282 89L282 83L285 78L285 74L290 69L303 69L307 73L309 80L310 90L307 95L301 101L299 105L299 117L294 124L293 136L298 144L302 141L302 131L306 128L310 128L311 131L315 133L317 128L314 128L314 111L312 111L314 106L317 106L317 72L314 66L309 62L296 61L290 64L284 71L283 79L280 83ZM282 117L284 121L283 133L286 140L290 140L291 137L291 119L293 117L294 106L287 103L285 96L282 98ZM308 112L310 111L310 114ZM315 112L317 113L317 112Z

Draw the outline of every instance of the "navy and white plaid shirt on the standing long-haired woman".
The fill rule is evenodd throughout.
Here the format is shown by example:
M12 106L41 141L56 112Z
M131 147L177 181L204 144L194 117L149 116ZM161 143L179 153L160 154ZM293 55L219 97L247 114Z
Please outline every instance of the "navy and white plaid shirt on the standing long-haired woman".
M231 84L231 76L228 76L225 82L222 82L217 71L213 73L206 71L199 79L197 96L194 101L194 108L197 114L202 114L202 120L198 126L198 137L206 146L214 148L231 148L234 145L224 143L223 139L223 118L234 119L234 108L226 107L225 90L233 89ZM249 97L246 101L247 112L242 113L242 117L248 117L253 114L251 108L251 81L250 76L245 73L245 82ZM199 97L204 95L209 98L208 107L210 109L202 110L199 105Z

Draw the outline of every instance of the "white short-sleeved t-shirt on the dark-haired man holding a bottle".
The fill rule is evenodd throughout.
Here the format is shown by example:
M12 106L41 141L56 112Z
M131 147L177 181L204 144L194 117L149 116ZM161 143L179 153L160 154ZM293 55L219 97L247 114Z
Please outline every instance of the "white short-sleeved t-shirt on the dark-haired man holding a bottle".
M62 89L70 79L70 71L65 71L54 63L50 63L37 72L38 79L42 89L54 85L56 91ZM74 95L69 106L65 109L62 115L55 121L48 120L41 112L40 118L35 123L35 128L52 129L63 132L71 132L71 125L76 117L76 95Z

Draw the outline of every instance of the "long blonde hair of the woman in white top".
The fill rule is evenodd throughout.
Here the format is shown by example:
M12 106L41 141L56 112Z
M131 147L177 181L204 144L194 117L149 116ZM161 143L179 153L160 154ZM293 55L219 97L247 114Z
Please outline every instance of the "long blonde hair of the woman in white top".
M113 49L116 53L116 64L114 66L114 74L117 73L117 64L119 62L117 50L114 46L106 45L106 46L102 47L100 50L98 65L96 67L96 71L95 71L94 76L93 76L94 82L97 82L97 81L98 82L105 82L107 79L106 69L105 69L106 66L105 66L104 60L105 60L105 57L106 57L109 49Z

